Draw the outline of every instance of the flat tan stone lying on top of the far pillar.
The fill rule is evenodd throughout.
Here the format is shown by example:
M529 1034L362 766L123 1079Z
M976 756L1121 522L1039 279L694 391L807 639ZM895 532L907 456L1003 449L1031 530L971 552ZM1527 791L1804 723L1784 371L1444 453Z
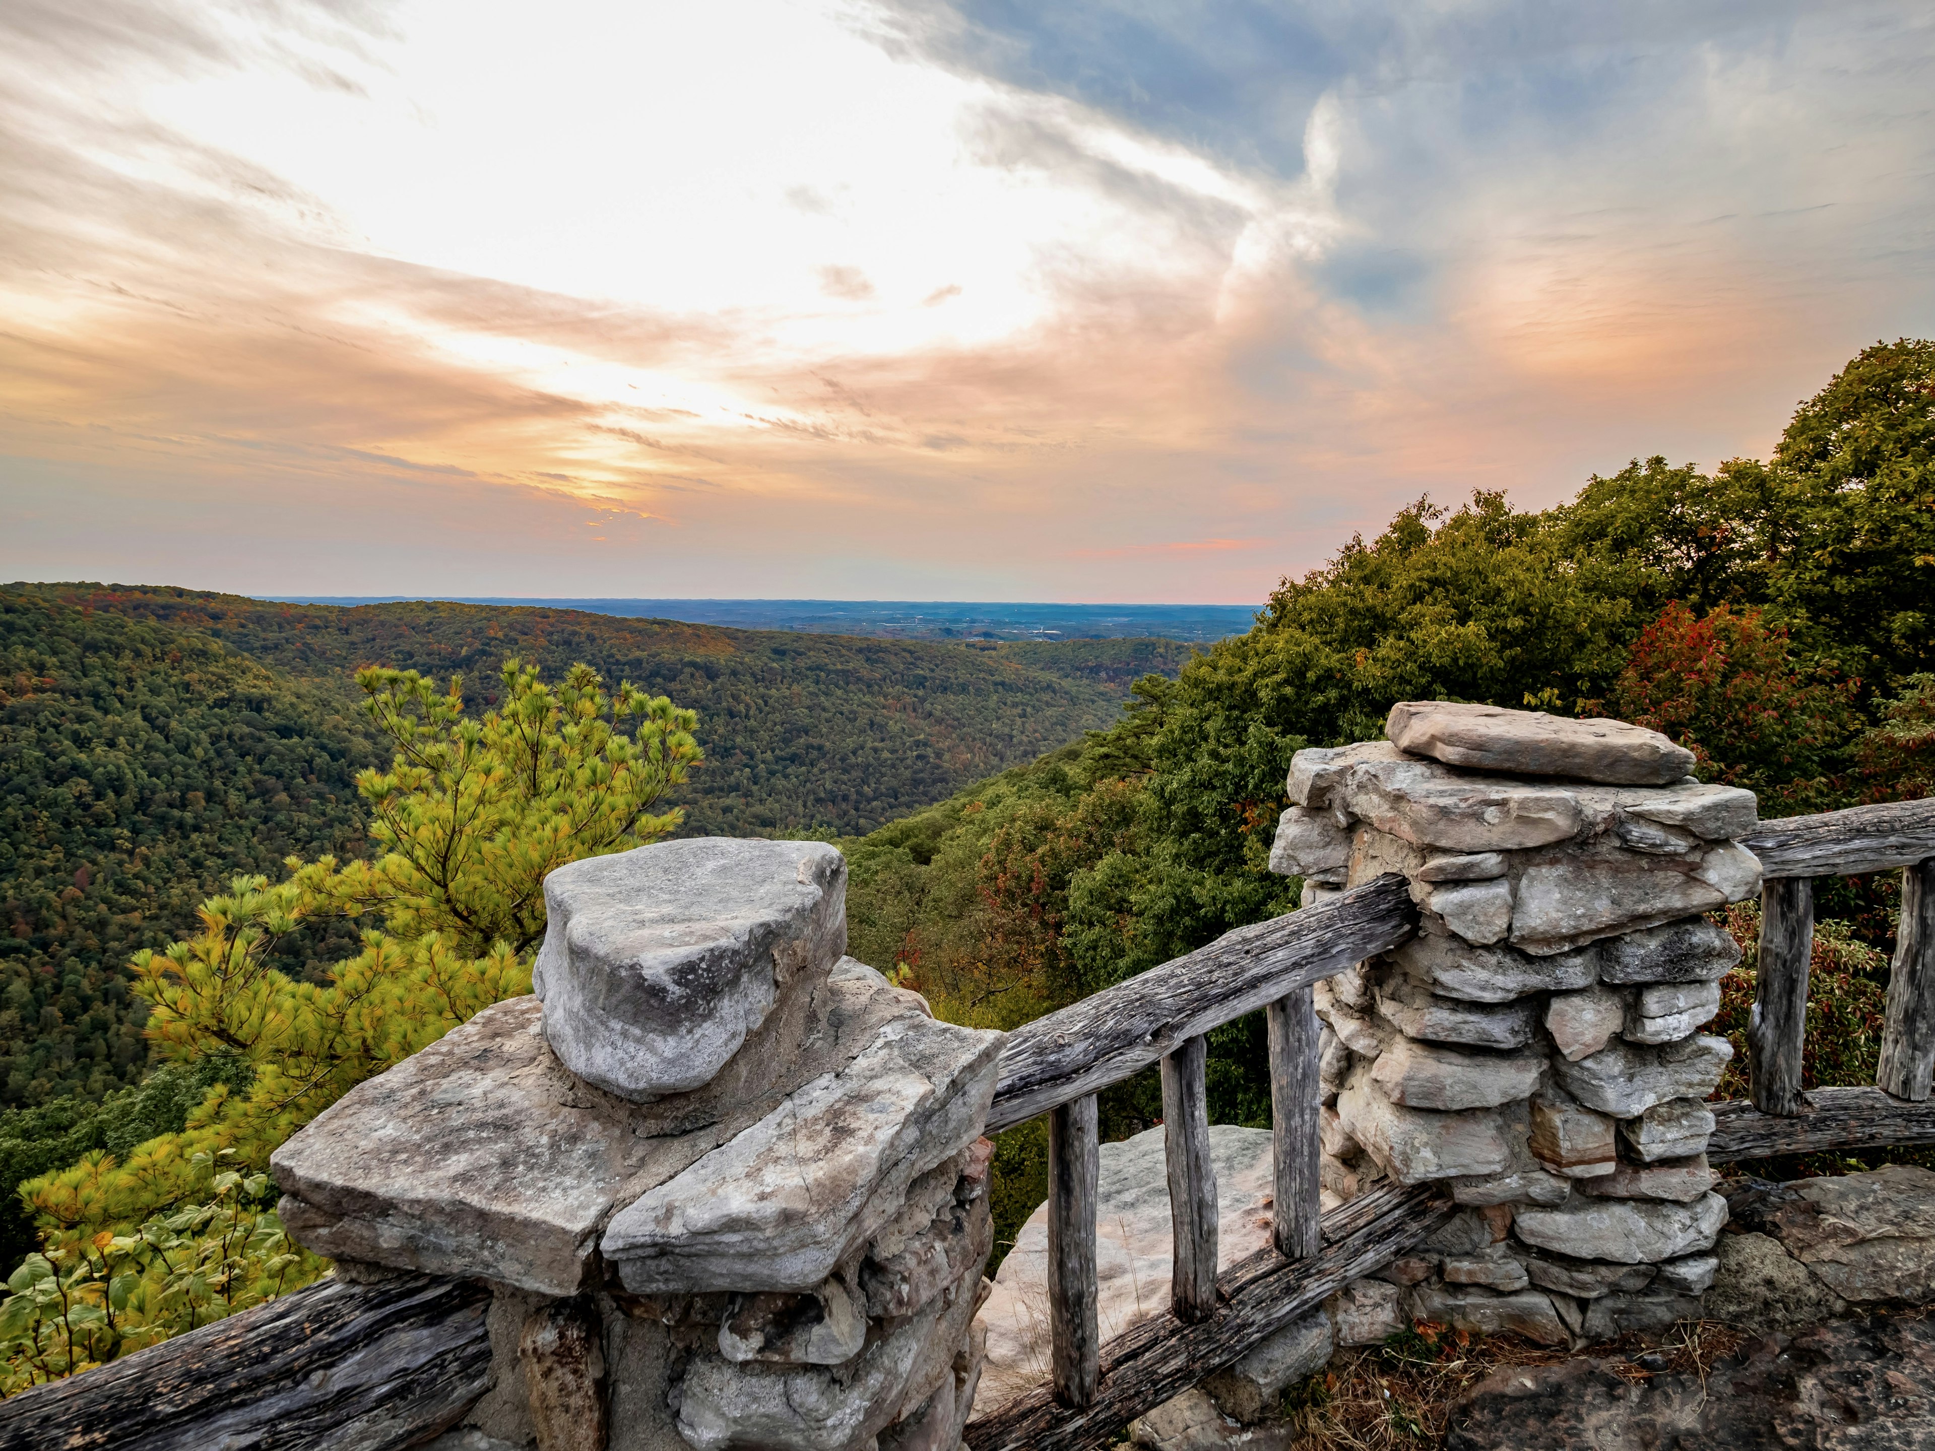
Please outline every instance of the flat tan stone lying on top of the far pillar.
M1399 751L1471 770L1618 785L1670 785L1693 770L1693 753L1658 731L1542 710L1405 700L1391 706L1385 735Z

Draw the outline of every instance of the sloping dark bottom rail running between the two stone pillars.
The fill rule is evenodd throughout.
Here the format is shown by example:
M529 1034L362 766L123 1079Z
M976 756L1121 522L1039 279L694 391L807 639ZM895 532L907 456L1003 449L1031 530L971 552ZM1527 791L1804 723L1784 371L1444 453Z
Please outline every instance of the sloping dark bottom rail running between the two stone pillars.
M1103 1347L1101 1381L1084 1408L1039 1387L971 1422L969 1451L1086 1451L1109 1445L1130 1420L1182 1393L1331 1294L1411 1250L1445 1219L1449 1196L1420 1184L1380 1196L1378 1213L1310 1259L1260 1250L1217 1283L1217 1314L1196 1323L1159 1314ZM1368 1198L1368 1196L1366 1196ZM1354 1205L1345 1205L1345 1213ZM1360 1217L1362 1211L1358 1211Z

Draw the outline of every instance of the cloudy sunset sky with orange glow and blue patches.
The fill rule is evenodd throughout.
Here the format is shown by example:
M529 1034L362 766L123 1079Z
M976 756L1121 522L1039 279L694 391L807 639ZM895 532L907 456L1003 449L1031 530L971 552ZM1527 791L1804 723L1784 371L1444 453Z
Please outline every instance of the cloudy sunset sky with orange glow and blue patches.
M0 578L1254 604L1902 335L1925 0L0 6Z

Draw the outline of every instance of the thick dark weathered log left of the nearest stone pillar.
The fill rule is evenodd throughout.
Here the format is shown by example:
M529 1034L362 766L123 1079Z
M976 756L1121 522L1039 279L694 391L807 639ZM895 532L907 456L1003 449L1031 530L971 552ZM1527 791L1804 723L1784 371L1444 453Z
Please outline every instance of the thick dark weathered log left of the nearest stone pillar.
M327 1279L0 1403L0 1451L393 1451L486 1391L490 1290Z

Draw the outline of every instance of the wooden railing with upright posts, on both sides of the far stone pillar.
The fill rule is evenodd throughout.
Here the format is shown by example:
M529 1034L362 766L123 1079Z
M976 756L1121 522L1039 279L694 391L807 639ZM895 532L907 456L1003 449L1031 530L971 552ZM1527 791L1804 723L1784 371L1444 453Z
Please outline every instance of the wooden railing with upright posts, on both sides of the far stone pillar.
M1745 845L1767 878L1747 1031L1753 1097L1714 1105L1709 1161L1935 1141L1935 801L1761 822ZM1803 1097L1811 878L1892 869L1904 869L1902 929L1879 1087ZM1310 989L1397 946L1414 925L1405 880L1380 876L1324 905L1242 927L1008 1035L989 1132L1051 1114L1051 1377L969 1424L969 1451L1107 1445L1134 1416L1382 1269L1451 1213L1430 1186L1378 1190L1329 1217L1318 1209L1322 1087ZM1202 1035L1256 1008L1269 1023L1273 1248L1219 1277ZM1171 1304L1099 1345L1095 1091L1157 1060L1175 1230Z

